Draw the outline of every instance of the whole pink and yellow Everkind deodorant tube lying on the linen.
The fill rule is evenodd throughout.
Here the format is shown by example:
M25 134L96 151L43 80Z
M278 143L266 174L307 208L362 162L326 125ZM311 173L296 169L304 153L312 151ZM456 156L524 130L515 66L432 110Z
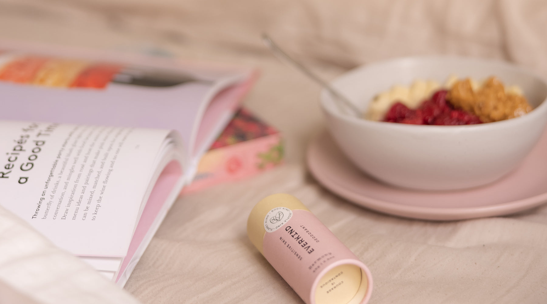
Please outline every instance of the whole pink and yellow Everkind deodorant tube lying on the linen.
M298 198L267 196L254 206L247 234L307 304L366 303L370 271Z

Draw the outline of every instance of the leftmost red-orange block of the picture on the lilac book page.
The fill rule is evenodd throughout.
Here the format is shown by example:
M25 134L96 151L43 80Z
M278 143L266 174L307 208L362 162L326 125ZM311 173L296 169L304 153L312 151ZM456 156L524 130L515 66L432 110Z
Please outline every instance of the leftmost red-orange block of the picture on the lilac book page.
M14 59L0 69L0 80L14 83L31 83L45 62L45 57L24 56Z

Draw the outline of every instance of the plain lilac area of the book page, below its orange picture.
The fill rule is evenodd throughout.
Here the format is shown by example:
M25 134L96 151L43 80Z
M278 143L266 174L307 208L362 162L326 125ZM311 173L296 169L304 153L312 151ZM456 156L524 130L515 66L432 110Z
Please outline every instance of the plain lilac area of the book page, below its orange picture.
M0 119L174 129L188 147L197 112L211 89L212 84L201 81L160 88L112 83L103 90L0 81L5 101Z

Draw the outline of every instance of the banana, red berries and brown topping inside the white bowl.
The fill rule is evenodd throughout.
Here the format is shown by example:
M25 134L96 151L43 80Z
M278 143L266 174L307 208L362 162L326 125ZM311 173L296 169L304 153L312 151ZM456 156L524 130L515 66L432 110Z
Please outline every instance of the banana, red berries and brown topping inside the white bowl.
M452 76L444 87L433 80L393 86L375 96L364 116L414 125L473 125L519 117L531 110L518 86L505 87L497 77L478 83Z

